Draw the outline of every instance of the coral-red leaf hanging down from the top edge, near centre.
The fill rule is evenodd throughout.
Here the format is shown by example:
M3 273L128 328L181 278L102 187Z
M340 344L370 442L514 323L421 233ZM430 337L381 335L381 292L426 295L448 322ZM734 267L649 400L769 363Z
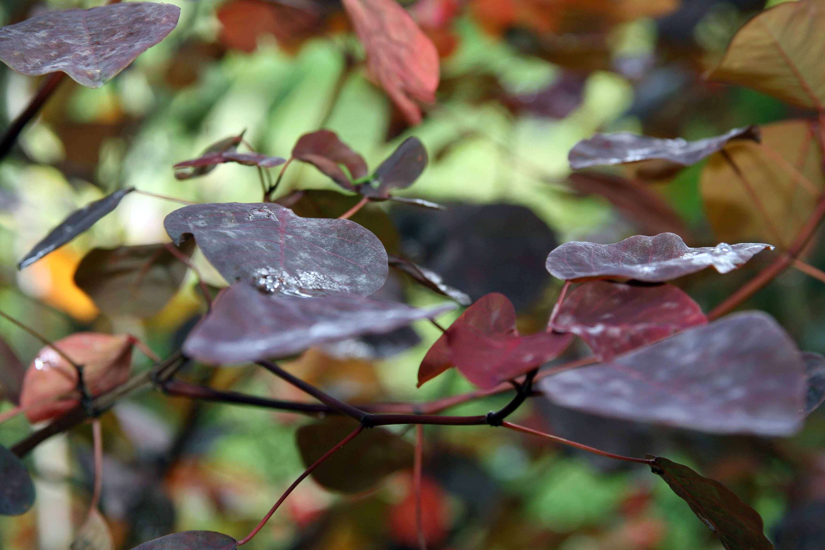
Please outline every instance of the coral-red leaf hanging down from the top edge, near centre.
M366 49L367 69L411 125L421 122L415 101L436 101L438 51L395 0L343 0Z

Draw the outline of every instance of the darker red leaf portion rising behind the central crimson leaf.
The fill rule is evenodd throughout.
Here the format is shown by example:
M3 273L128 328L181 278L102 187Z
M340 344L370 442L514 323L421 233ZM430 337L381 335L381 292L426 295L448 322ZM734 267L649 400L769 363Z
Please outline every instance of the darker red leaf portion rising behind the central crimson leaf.
M469 325L489 336L513 335L516 334L516 310L504 294L494 292L479 298L461 313L424 355L418 367L418 387L455 366L448 333L454 333L460 324Z

